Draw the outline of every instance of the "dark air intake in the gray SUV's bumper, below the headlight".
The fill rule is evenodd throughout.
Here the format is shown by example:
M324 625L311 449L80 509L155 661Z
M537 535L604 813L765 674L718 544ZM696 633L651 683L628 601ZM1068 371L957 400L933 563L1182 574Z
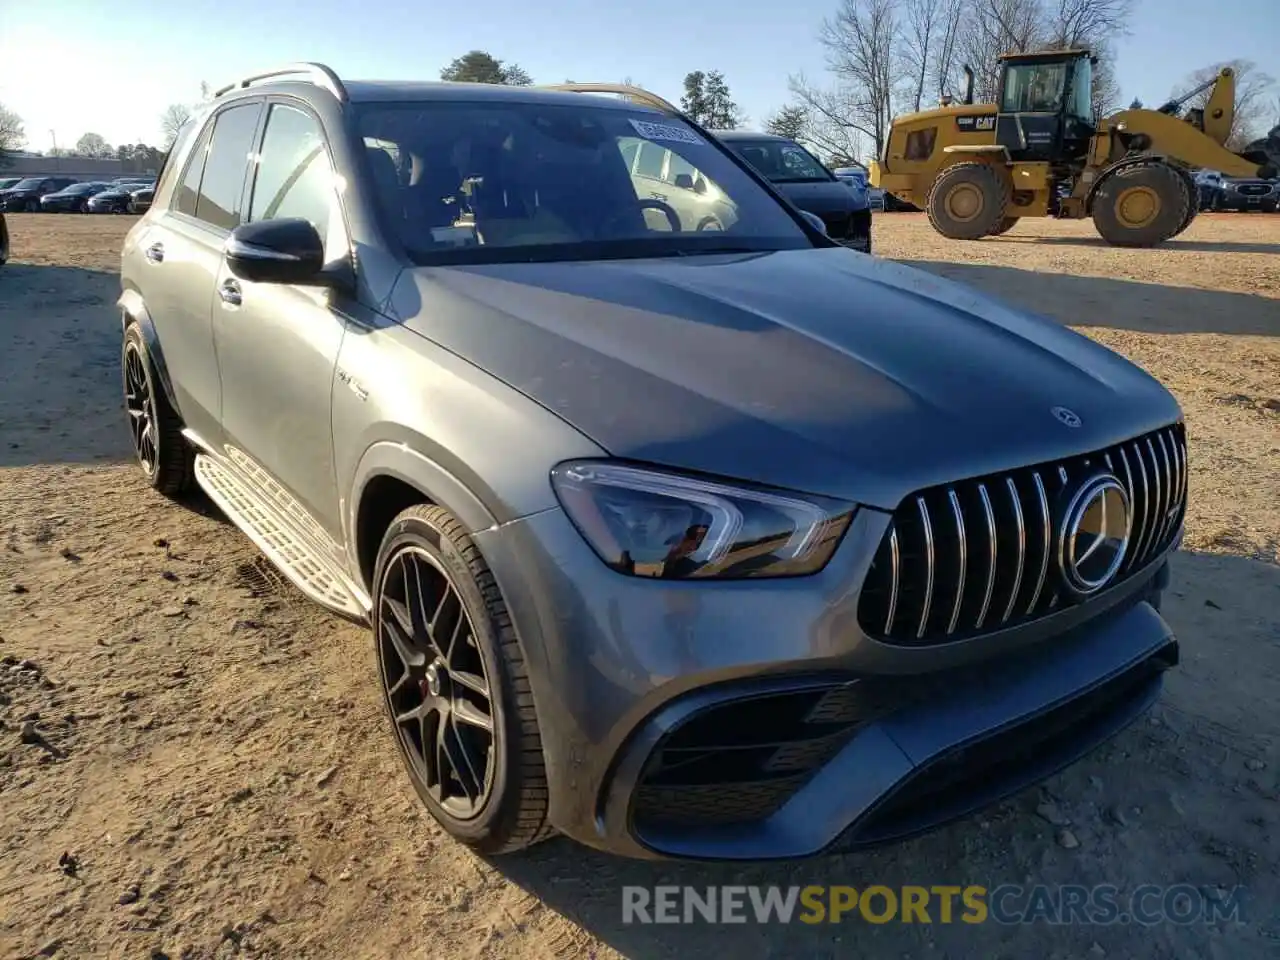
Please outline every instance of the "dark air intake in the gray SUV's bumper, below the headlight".
M768 818L883 712L856 682L742 696L695 713L645 764L632 800L636 829Z

